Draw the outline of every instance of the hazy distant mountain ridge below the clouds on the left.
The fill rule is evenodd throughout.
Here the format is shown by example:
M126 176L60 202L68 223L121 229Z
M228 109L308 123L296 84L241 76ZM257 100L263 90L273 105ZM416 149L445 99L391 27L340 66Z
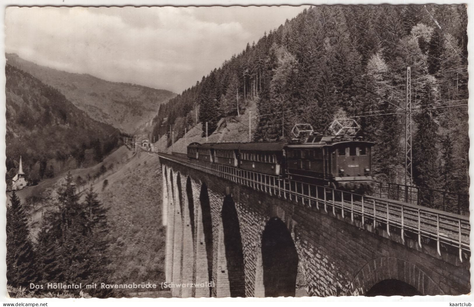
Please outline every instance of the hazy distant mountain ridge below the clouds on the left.
M176 93L166 90L56 70L29 62L16 54L6 54L6 58L9 65L59 90L92 119L130 134L150 121L161 103L176 96Z

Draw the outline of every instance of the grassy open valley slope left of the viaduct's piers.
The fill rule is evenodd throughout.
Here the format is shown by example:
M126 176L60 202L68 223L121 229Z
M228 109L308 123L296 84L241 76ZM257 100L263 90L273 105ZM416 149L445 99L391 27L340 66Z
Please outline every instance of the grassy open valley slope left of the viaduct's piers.
M164 280L165 227L162 226L162 175L158 156L132 152L122 146L103 162L88 168L72 169L71 174L74 179L88 178L88 175L98 174L102 166L107 171L100 176L91 176L84 186L78 186L78 193L83 201L84 189L92 187L108 209L110 280L116 284ZM66 173L63 173L17 192L28 213L34 241L43 217L56 208L55 191L65 177ZM130 289L124 290L124 294L130 297L170 297L170 291L152 290L137 293L136 289Z

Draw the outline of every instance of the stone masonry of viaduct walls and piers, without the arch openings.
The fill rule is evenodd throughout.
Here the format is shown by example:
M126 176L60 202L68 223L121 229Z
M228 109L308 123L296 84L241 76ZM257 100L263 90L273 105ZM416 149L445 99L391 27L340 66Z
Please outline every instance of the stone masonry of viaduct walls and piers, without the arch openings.
M423 295L459 295L470 290L469 261L467 259L460 262L456 252L443 251L439 256L436 248L430 244L423 244L420 248L410 238L405 238L405 242L402 242L396 233L388 235L380 229L362 225L356 219L351 221L348 214L342 217L340 213L333 214L331 210L325 212L323 205L319 208L303 206L294 200L266 195L163 158L161 161L167 172L164 178L168 181L163 184L167 191L163 195L163 204L168 212L167 244L173 245L166 249L167 280L171 275L169 268L172 267L171 278L174 282L188 282L190 278L196 283L211 281L213 297L230 295L221 218L224 198L230 195L240 226L247 297L263 297L265 293L261 241L265 225L273 217L282 220L291 233L299 259L297 285L304 287L304 295L364 295L385 279L406 282ZM169 173L173 174L174 191ZM178 173L181 178L184 213L176 205L179 204L176 199ZM194 203L194 238L191 226L187 226L190 224L190 213L186 212L188 200L184 192L187 177L191 178ZM204 184L210 204L212 262L208 262L210 255L206 252L204 240L200 201ZM172 210L173 207L176 208ZM170 242L170 238L174 240ZM192 260L188 259L188 255L192 255ZM169 263L171 260L173 264ZM212 280L209 280L208 263L212 264ZM301 292L297 291L297 295L298 293L301 295ZM191 291L173 290L172 294L176 297L210 295L209 288L206 287L196 287Z

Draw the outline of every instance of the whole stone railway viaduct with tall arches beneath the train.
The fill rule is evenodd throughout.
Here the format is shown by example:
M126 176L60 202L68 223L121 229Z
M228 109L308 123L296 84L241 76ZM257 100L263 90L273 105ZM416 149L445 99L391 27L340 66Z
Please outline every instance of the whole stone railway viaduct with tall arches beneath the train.
M271 195L172 157L160 154L165 274L173 297L470 291L468 248L439 240L437 246L429 237L403 233L403 223L400 232L324 201Z

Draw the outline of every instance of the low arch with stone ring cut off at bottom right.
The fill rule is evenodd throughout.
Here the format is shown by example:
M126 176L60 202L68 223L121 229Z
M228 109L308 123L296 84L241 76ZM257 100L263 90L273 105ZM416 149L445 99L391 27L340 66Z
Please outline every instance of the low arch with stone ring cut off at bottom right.
M356 274L351 283L351 293L348 295L444 294L427 272L427 269L404 259L381 257L367 262Z

